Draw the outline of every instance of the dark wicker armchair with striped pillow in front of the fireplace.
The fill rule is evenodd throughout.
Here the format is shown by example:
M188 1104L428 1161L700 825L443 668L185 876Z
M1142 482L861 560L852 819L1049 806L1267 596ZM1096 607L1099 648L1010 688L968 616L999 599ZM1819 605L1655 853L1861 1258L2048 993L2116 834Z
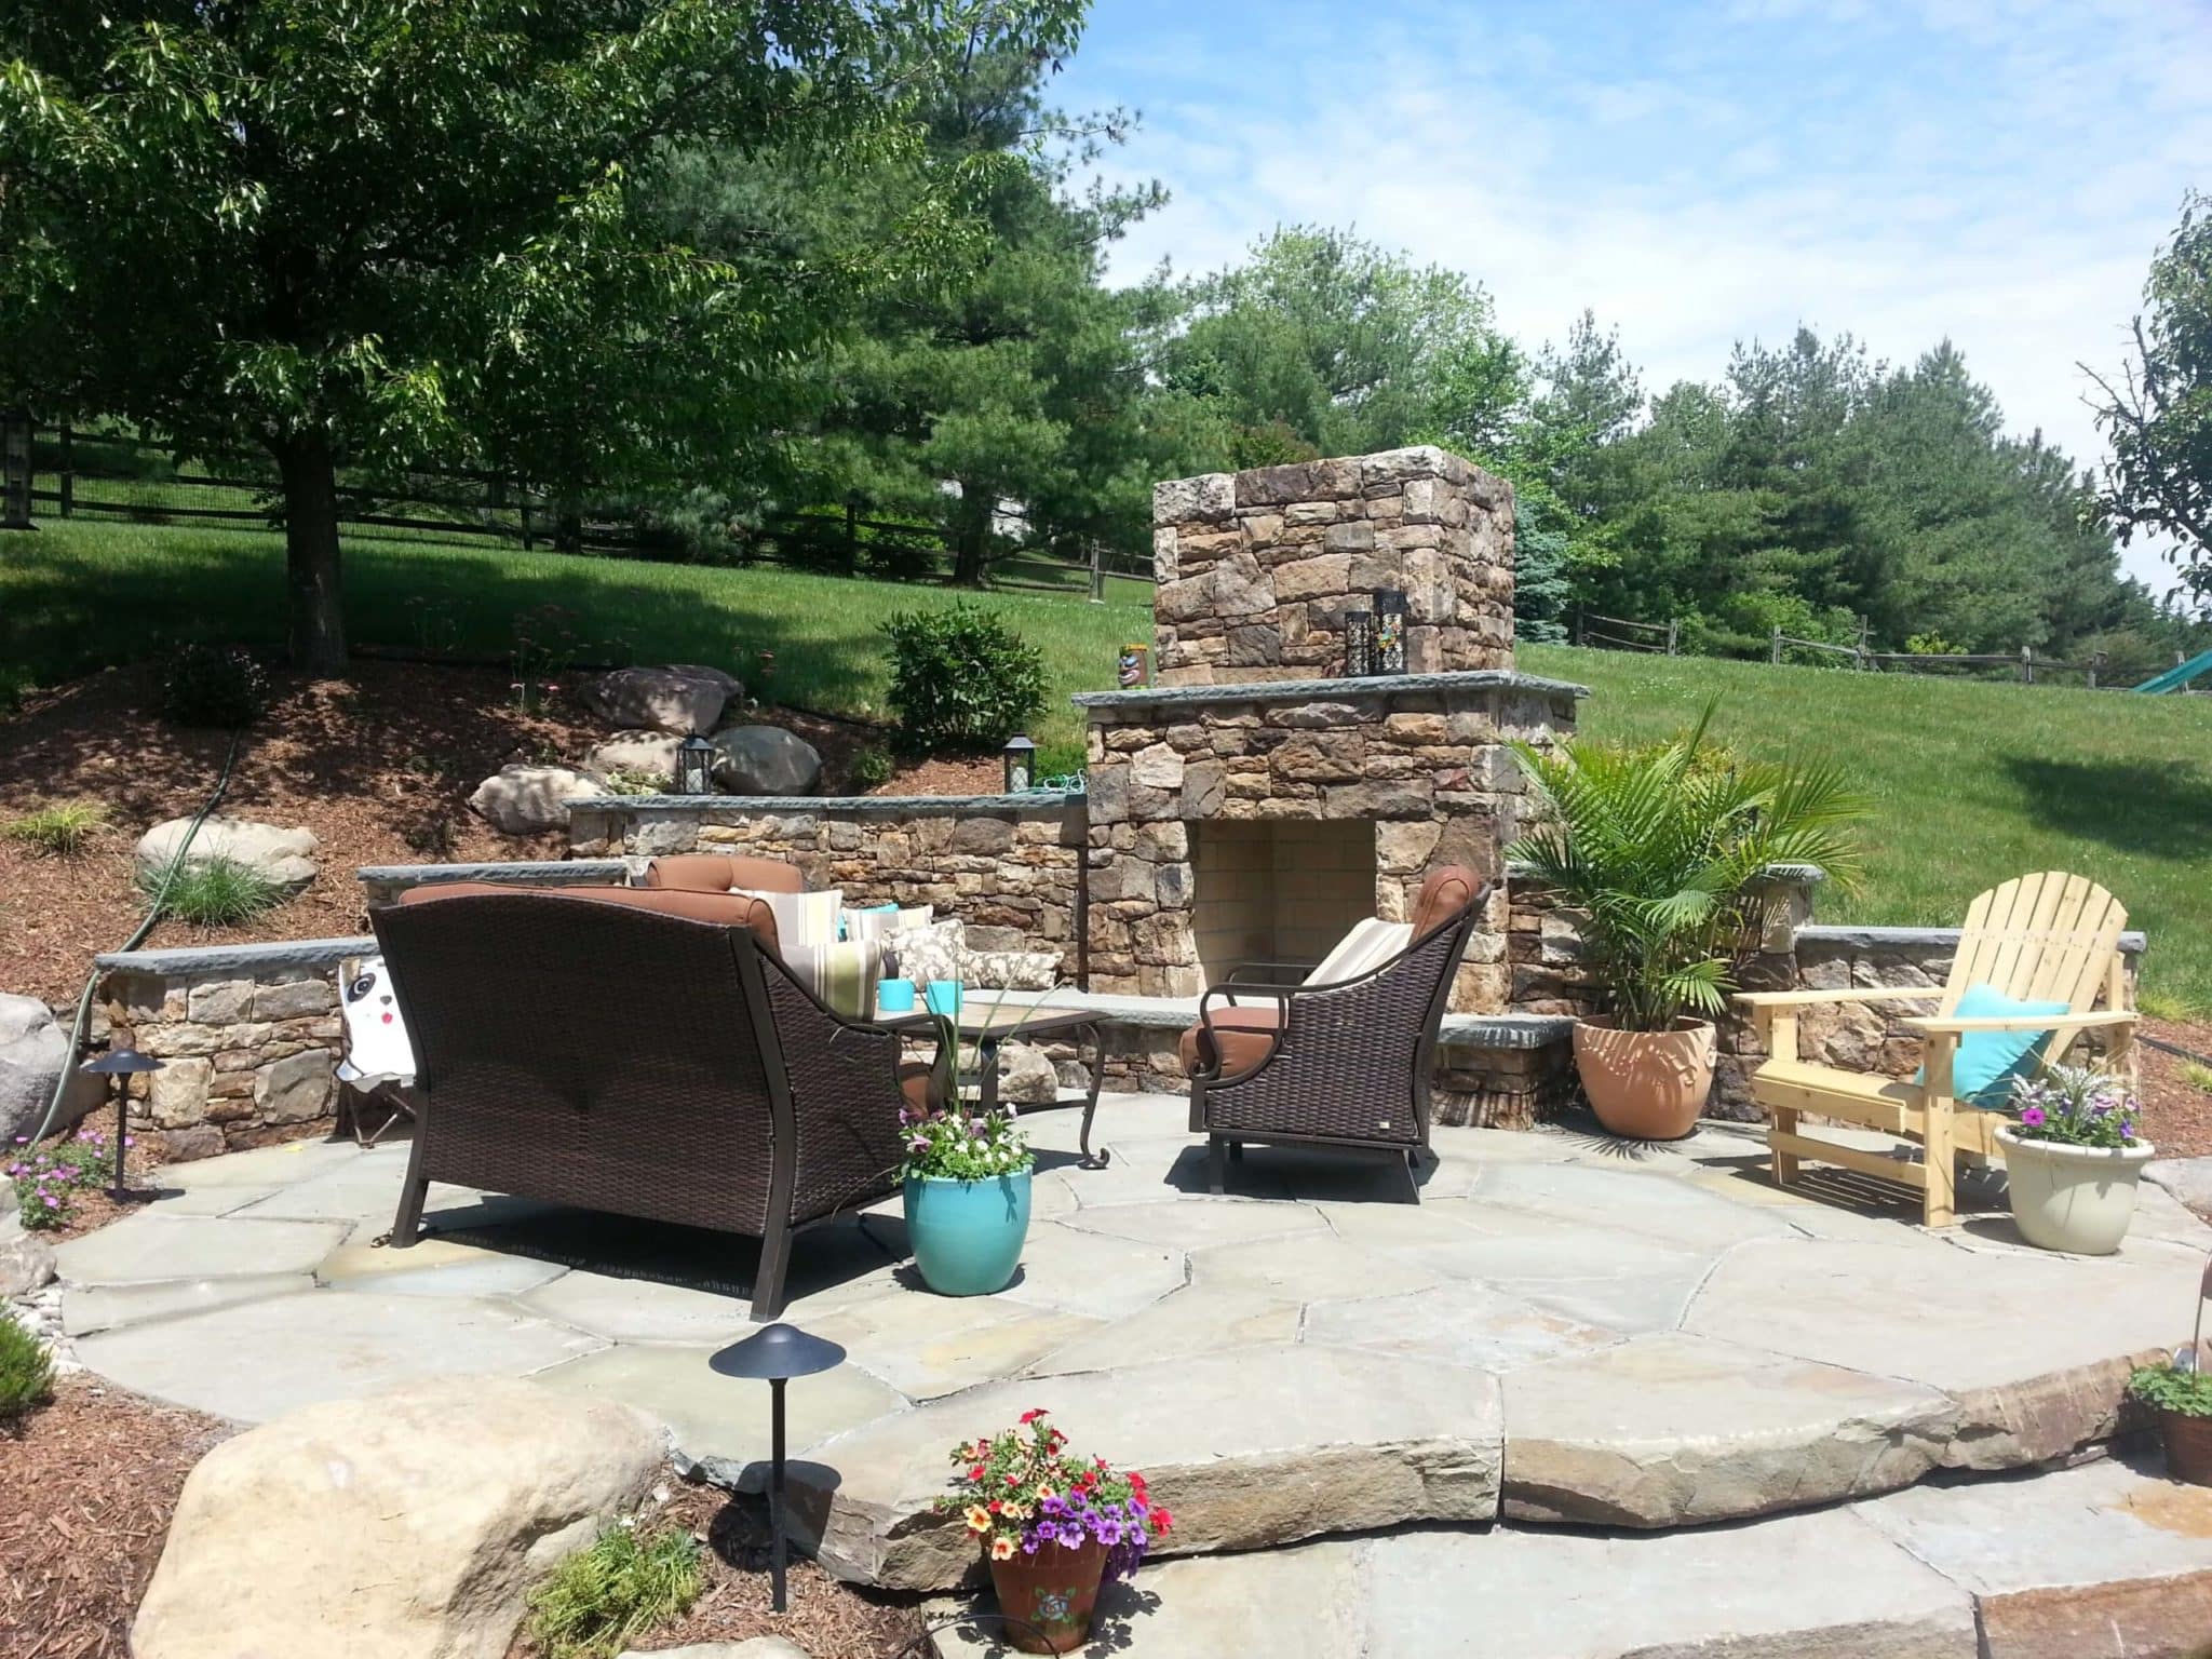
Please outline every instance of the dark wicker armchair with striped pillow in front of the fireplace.
M1422 885L1413 942L1336 984L1232 982L1199 1000L1183 1037L1190 1128L1206 1135L1208 1188L1245 1141L1369 1150L1407 1172L1429 1146L1429 1071L1451 978L1491 883L1451 865Z

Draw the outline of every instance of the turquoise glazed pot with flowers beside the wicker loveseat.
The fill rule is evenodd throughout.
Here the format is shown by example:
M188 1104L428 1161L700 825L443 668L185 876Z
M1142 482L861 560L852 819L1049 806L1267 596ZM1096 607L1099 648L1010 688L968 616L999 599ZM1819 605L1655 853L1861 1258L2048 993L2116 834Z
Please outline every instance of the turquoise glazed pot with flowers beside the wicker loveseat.
M1035 1159L1013 1113L951 1108L900 1113L907 1243L940 1296L989 1296L1013 1283L1029 1239L1029 1177Z

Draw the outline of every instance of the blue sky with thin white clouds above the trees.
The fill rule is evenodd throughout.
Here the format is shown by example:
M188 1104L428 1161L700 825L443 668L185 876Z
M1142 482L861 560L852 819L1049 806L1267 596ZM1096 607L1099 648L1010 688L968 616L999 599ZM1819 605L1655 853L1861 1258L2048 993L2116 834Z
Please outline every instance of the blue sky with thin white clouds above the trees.
M1595 307L1648 385L1798 321L1949 336L2011 429L2097 460L2075 365L2119 361L2212 192L2212 0L1095 0L1055 97L1139 108L1108 170L1175 195L1119 274L1356 226L1528 345Z

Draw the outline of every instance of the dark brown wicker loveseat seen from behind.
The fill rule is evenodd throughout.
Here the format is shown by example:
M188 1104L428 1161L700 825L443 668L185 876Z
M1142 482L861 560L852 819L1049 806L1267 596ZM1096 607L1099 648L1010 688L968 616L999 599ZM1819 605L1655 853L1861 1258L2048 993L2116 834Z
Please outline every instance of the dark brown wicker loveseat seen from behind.
M630 898L615 894L630 891ZM761 1239L896 1190L900 1037L838 1018L741 918L608 889L467 891L374 916L414 1037L420 1126L394 1248L431 1181Z

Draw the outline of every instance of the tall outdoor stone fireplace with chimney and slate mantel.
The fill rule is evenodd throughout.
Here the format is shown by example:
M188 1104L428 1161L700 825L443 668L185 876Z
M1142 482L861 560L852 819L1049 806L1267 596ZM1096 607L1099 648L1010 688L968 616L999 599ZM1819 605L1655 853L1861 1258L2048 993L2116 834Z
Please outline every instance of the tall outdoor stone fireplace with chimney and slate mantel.
M1091 987L1197 995L1245 960L1314 962L1422 876L1502 869L1509 743L1579 686L1513 670L1513 491L1442 449L1179 478L1152 491L1155 686L1093 692ZM1407 597L1405 675L1343 677L1343 617ZM1506 898L1453 1009L1506 1006Z

